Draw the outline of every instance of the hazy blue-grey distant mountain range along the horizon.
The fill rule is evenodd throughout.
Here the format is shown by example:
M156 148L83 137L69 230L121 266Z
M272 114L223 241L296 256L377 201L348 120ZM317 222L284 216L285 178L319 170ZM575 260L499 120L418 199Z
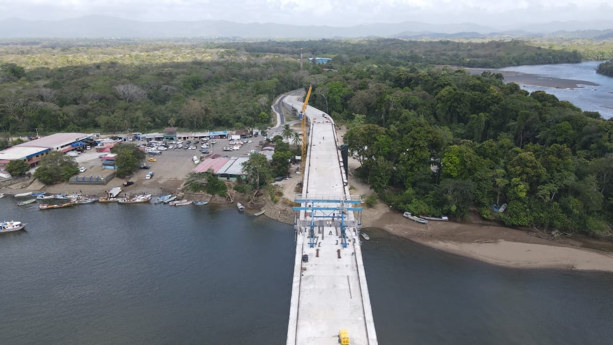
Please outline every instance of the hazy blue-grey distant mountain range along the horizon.
M608 30L607 30L608 29ZM351 27L303 26L275 23L234 23L224 20L199 21L137 21L100 15L89 15L59 21L0 20L0 38L32 37L237 37L256 39L321 39L340 37L403 37L403 38L477 38L477 37L534 37L572 36L582 30L589 37L611 37L612 21L554 21L547 24L524 25L518 28L496 29L474 23L428 24L418 21L402 23L363 24Z

